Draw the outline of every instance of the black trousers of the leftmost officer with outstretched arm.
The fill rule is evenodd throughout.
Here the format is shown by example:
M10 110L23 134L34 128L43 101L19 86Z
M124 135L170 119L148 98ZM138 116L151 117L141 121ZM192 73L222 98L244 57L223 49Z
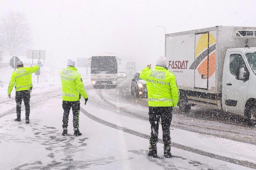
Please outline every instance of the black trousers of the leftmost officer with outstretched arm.
M16 101L17 117L20 117L20 114L21 114L21 102L22 102L22 100L23 100L24 105L25 105L26 119L28 119L29 114L30 114L30 105L29 105L30 92L29 92L29 90L16 91L15 101Z

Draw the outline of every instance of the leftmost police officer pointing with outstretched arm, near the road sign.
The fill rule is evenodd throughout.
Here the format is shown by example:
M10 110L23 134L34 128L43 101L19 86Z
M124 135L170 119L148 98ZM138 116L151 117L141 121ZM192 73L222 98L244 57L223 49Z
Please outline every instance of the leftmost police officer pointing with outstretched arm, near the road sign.
M40 63L38 63L40 64ZM23 67L22 61L17 62L17 70L12 72L12 77L8 86L8 97L11 98L12 88L16 83L15 90L15 101L16 101L16 114L17 118L14 121L21 121L21 102L23 100L25 105L26 123L29 123L29 114L30 114L30 90L32 90L32 80L31 74L36 72L39 69L39 66L34 67Z

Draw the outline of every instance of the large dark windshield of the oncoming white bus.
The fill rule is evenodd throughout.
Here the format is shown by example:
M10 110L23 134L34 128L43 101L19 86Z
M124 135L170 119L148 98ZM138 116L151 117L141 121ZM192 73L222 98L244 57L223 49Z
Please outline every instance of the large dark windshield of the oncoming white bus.
M117 73L117 62L115 56L93 56L91 58L91 74L100 73Z

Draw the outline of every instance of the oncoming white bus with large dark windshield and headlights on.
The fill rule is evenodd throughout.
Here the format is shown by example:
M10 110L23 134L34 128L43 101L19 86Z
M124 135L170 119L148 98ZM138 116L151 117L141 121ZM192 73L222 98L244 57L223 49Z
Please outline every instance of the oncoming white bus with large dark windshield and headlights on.
M95 88L99 85L116 88L118 78L118 64L121 59L112 53L99 53L91 57L91 84Z

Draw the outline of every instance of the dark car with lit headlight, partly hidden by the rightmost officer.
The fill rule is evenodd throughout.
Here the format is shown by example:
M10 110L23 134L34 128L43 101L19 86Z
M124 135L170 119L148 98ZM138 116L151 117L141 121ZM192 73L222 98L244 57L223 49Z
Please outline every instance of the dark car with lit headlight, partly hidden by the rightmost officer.
M131 94L135 97L148 95L146 81L140 79L140 72L135 73L131 83Z

